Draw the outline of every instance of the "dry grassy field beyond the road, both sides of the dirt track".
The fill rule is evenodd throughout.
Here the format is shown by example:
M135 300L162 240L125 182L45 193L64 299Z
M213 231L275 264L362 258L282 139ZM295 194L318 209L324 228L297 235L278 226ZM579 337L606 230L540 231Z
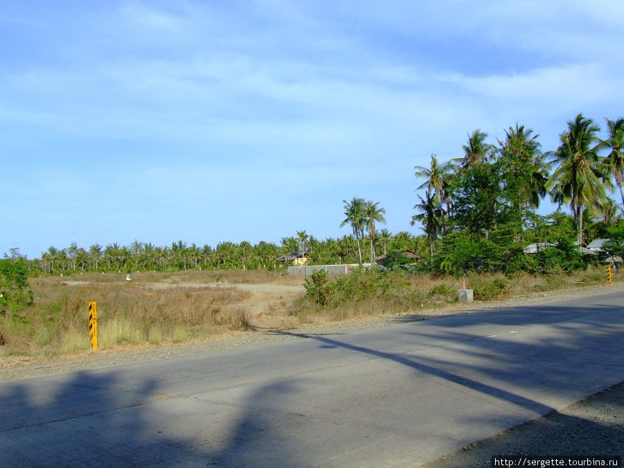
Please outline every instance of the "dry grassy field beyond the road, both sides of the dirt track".
M621 272L614 280L621 281ZM275 272L211 270L205 272L89 274L31 278L34 304L20 313L0 315L2 356L46 356L89 349L87 304L98 304L98 344L101 349L162 345L207 340L232 333L253 333L258 320L271 327L365 320L381 315L426 313L457 301L461 281L451 277L361 273L327 278L317 291L303 296L300 277ZM245 285L235 286L236 284ZM476 300L501 300L536 291L605 284L605 269L590 268L575 275L551 272L543 277L469 275ZM249 288L249 285L258 285ZM263 288L282 308L254 315L266 300ZM270 315L275 316L270 316ZM268 317L267 317L268 315ZM271 321L272 320L272 321ZM255 321L255 322L254 322Z

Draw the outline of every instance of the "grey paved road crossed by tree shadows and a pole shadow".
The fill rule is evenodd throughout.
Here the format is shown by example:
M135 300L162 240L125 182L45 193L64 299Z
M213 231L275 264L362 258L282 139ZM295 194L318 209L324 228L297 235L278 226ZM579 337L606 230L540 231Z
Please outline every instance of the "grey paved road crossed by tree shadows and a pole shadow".
M0 466L415 467L624 380L624 294L0 383Z

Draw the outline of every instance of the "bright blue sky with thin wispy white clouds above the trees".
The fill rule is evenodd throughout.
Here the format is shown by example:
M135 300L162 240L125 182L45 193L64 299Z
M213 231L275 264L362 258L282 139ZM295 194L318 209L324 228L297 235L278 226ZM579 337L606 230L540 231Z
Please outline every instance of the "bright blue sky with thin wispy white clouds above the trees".
M624 114L624 2L0 2L0 254L408 230L416 165Z

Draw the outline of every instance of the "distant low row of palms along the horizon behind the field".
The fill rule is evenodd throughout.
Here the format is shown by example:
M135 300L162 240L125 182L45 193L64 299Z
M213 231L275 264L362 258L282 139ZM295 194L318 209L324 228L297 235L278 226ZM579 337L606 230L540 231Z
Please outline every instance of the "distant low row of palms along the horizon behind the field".
M358 234L359 236L359 234ZM311 264L358 263L370 261L370 252L359 248L361 236L317 239L306 231L281 238L280 243L260 241L252 244L220 242L211 245L187 244L177 241L171 245L154 245L133 241L130 245L94 244L89 248L71 243L67 248L49 247L37 259L26 259L19 249L11 249L6 257L26 262L28 269L44 273L73 272L132 272L177 271L207 269L276 270L284 266L279 257L293 252L305 252ZM376 233L374 248L378 252L422 250L424 236L409 232L392 234L388 229Z

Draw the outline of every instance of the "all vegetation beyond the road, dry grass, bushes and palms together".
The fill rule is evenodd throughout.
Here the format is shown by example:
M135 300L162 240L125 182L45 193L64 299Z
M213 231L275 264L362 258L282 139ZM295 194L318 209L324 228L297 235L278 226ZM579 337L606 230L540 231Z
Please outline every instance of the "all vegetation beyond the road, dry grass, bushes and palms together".
M414 173L419 193L410 222L422 234L379 229L381 202L354 196L343 200L342 223L337 213L336 225L351 231L339 239L300 230L280 244L214 248L71 243L37 259L13 248L0 261L0 356L86 349L90 300L101 313L103 348L244 331L250 317L240 303L249 293L227 284L301 284L286 276L293 253L309 265L360 266L343 277L306 279L304 297L291 307L293 326L448 306L462 277L476 300L603 283L606 264L617 267L624 257L624 119L605 123L601 139L599 125L578 114L557 148L545 152L539 135L517 123L502 141L487 141L477 129L447 161L432 154ZM547 196L558 209L540 215ZM599 252L583 250L593 239L610 240ZM132 281L124 281L126 273ZM621 272L613 274L618 280ZM201 286L207 283L225 287Z

